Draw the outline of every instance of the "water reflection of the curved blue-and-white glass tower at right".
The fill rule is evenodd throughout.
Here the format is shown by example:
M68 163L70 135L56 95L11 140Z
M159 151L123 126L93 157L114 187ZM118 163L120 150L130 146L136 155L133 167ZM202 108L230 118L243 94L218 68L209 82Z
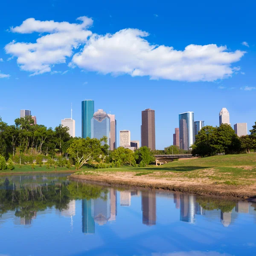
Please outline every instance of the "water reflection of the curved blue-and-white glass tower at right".
M180 195L180 220L195 223L194 195Z

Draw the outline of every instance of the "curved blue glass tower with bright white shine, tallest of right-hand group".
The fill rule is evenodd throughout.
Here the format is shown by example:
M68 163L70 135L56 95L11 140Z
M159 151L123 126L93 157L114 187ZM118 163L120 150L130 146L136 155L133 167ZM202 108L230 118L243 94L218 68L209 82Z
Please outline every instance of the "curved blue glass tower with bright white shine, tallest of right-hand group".
M180 148L189 150L195 142L194 132L194 112L185 112L179 114L180 126Z

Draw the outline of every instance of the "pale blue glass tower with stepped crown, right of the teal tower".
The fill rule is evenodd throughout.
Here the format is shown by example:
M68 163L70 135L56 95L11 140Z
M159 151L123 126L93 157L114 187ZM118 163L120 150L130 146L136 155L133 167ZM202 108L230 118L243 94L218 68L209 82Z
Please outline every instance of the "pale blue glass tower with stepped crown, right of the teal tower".
M91 138L100 140L103 136L108 138L107 144L110 145L110 118L103 109L98 109L91 119Z

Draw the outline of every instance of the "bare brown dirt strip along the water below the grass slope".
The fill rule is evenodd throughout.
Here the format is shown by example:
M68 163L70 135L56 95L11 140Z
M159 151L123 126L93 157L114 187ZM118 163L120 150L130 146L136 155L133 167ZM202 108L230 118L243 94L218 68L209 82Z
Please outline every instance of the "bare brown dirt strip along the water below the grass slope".
M163 178L154 179L152 177L134 176L134 173L97 173L76 175L72 174L68 178L74 181L90 181L102 185L138 187L148 189L159 189L173 192L183 192L195 195L225 197L225 198L256 198L256 186L235 186L215 183L203 183L202 180L191 180L190 182L180 180L167 180Z

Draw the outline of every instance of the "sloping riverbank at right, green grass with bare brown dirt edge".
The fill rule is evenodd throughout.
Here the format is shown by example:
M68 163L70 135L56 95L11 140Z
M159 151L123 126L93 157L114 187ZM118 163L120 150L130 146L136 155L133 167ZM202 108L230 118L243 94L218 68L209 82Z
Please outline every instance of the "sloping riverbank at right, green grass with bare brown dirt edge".
M256 196L256 154L174 161L147 168L81 170L71 180L233 198Z

